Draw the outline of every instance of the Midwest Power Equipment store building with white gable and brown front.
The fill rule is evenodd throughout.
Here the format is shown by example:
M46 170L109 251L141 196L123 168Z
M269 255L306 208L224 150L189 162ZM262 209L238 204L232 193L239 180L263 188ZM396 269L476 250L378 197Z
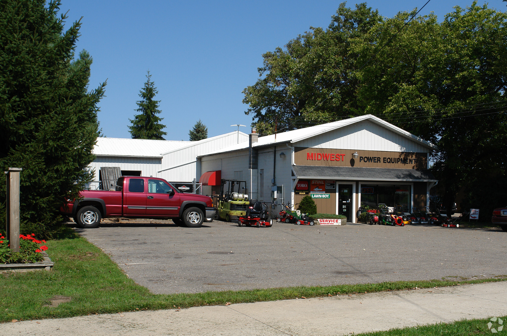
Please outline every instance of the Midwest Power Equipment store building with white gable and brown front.
M294 205L312 195L318 212L349 221L360 205L427 206L437 182L427 170L436 147L373 115L262 137L252 129L249 137L198 156L197 172L246 180L250 199L263 202ZM219 192L203 185L203 194Z

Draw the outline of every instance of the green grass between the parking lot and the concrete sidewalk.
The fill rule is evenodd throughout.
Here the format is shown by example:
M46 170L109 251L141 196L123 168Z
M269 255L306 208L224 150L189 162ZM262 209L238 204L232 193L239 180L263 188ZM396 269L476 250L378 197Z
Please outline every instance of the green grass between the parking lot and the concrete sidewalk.
M49 241L47 251L55 262L51 272L37 271L0 275L0 321L70 317L144 309L170 309L322 297L351 293L452 286L458 283L503 281L503 278L466 281L397 281L328 287L286 287L248 291L156 295L136 284L107 255L74 233ZM54 296L72 300L56 308L44 307Z

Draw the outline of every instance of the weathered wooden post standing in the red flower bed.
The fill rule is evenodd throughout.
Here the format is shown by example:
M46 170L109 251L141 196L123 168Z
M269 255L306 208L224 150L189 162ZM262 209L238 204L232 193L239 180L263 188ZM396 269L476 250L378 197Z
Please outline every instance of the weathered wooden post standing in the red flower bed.
M7 180L7 239L9 247L19 252L19 173L23 168L9 168Z

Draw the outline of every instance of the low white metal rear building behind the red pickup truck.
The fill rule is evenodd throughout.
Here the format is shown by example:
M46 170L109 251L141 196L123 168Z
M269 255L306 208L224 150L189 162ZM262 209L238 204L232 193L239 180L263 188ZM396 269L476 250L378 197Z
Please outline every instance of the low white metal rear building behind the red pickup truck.
M88 169L94 169L98 188L101 167L120 167L122 175L156 176L168 181L199 179L196 157L207 152L248 141L243 132L230 132L199 141L148 140L99 137L93 148L96 158Z

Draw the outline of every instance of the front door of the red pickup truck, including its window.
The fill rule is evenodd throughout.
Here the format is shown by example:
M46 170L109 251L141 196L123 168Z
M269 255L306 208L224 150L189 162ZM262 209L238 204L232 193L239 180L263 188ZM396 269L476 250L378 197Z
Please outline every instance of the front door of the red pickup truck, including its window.
M170 196L171 190L172 188L166 182L149 178L146 214L149 216L178 216L179 194Z

